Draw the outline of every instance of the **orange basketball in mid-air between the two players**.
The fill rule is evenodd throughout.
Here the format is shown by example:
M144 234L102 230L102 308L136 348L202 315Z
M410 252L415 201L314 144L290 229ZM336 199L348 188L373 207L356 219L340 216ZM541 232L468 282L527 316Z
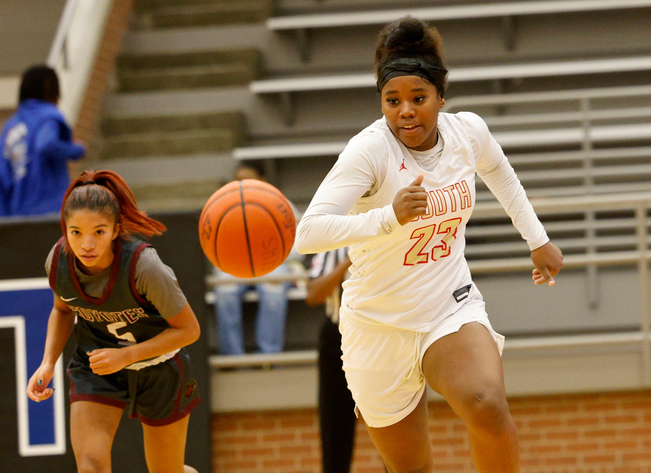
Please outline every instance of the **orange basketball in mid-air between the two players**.
M215 192L199 217L208 260L240 278L266 275L289 255L296 218L285 196L266 182L233 181Z

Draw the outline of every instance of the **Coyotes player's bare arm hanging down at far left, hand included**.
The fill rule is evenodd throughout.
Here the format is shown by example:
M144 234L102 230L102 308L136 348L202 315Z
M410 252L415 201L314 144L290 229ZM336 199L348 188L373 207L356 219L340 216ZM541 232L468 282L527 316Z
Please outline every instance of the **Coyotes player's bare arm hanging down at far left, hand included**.
M48 334L45 340L45 351L43 360L27 383L27 397L33 401L40 402L48 399L54 392L48 388L49 382L54 375L54 366L61 356L63 348L70 338L72 326L75 323L75 314L57 299L54 295L54 306L48 319Z

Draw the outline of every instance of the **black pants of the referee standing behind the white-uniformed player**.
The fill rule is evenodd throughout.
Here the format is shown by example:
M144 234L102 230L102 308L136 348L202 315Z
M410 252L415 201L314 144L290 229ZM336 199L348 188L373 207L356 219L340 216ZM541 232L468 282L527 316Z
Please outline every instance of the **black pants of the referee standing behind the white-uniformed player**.
M355 440L355 401L341 360L341 334L327 319L319 339L319 420L323 473L348 473Z

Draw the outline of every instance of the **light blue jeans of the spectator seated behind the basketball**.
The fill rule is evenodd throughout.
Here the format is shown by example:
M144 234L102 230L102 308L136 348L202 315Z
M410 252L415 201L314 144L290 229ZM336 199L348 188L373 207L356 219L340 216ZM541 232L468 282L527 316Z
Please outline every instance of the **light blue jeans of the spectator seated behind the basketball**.
M289 269L283 264L270 275L284 275ZM222 273L223 274L223 273ZM245 282L246 280L243 279ZM255 341L261 353L279 353L284 347L284 326L287 318L287 290L290 283L257 284L258 316L255 321ZM224 284L215 288L215 318L219 331L220 353L242 355L244 337L242 330L242 295L251 286Z

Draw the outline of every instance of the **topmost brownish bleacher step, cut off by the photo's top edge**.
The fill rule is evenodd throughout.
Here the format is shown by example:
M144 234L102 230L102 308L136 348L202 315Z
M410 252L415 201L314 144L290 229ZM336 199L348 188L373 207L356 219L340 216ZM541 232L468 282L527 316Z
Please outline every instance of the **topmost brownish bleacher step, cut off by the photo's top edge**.
M133 26L139 29L200 27L229 23L256 23L271 14L268 0L157 1L138 8Z

